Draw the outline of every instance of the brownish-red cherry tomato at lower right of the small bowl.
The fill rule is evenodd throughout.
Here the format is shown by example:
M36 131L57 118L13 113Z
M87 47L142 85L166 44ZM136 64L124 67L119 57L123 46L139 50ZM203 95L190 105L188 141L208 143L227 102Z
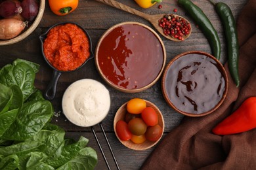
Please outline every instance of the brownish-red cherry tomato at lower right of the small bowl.
M146 130L145 136L148 141L158 141L161 137L161 133L163 132L163 128L160 125L156 126L148 126L148 129Z

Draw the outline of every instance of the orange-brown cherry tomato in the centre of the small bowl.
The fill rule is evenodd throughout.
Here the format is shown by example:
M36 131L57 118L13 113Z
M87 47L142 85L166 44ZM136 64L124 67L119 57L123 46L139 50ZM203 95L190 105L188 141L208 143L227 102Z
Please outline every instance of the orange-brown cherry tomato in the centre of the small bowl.
M128 124L128 128L133 135L143 135L146 132L146 124L141 118L133 118Z

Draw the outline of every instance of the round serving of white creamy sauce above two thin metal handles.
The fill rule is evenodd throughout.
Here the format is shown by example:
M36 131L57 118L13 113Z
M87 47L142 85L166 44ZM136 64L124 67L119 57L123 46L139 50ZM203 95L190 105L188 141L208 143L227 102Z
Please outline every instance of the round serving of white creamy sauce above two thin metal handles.
M100 123L110 109L110 93L93 79L77 80L64 92L62 110L73 124L89 127Z

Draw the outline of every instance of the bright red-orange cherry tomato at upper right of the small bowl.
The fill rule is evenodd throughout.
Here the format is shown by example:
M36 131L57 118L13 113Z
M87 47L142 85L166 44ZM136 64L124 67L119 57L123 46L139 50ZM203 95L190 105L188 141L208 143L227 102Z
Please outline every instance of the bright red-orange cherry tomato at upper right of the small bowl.
M155 126L158 124L158 114L152 107L146 107L143 109L141 117L147 126Z

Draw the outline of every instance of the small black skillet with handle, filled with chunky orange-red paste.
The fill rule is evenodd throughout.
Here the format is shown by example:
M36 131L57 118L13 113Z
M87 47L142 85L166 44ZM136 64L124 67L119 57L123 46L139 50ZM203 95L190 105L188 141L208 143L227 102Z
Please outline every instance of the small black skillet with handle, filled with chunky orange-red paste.
M62 73L76 71L93 58L91 37L78 24L61 22L39 37L43 58L53 69L53 77L45 90L45 98L53 99Z

